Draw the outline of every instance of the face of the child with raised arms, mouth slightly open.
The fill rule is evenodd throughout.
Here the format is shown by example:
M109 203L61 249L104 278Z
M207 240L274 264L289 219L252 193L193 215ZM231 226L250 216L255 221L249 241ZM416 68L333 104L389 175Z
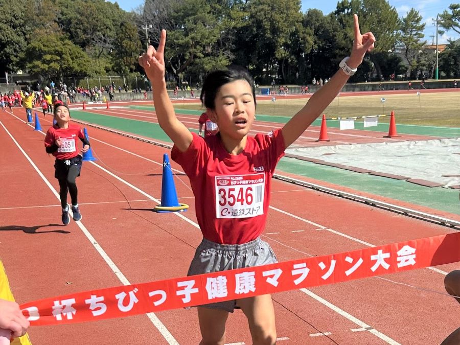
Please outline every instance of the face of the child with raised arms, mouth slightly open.
M236 80L220 87L215 99L215 110L208 112L217 123L221 135L242 139L251 128L256 113L252 89L246 80Z

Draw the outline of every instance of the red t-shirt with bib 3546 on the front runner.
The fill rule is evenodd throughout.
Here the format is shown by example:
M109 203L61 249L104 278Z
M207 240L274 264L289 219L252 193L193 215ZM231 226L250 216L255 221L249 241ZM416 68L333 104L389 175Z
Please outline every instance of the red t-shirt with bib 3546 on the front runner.
M255 240L265 227L271 176L284 155L281 130L248 136L238 155L225 150L220 134L192 134L187 151L174 146L171 158L190 179L203 237L221 244Z

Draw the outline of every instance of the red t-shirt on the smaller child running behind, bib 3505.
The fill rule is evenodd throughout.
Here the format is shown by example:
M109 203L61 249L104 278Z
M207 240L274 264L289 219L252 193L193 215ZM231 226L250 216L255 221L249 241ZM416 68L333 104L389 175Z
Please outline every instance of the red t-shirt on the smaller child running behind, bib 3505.
M69 123L68 128L59 128L58 124L50 127L45 136L45 147L50 147L56 143L56 139L61 138L62 145L57 151L53 152L53 156L57 159L70 159L78 155L77 138L83 139L84 134L79 125Z

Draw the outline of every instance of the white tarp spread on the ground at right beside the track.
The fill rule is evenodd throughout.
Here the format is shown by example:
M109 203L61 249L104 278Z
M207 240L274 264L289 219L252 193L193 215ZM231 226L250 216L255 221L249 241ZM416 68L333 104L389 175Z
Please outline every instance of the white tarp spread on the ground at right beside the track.
M460 137L287 149L286 153L388 174L460 185Z

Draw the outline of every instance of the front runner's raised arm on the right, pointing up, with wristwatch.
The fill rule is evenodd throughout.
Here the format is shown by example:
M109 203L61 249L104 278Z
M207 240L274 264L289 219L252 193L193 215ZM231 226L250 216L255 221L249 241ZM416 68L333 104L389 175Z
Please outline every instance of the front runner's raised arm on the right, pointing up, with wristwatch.
M346 61L350 70L355 70L355 68L361 64L365 53L373 50L375 43L375 37L372 32L361 35L358 16L356 14L354 15L354 31L355 38L353 41L352 53L350 58ZM330 81L317 90L307 104L288 121L282 129L286 148L296 141L312 122L320 116L324 109L327 108L340 92L343 85L346 84L350 75L351 74L347 74L340 68Z

